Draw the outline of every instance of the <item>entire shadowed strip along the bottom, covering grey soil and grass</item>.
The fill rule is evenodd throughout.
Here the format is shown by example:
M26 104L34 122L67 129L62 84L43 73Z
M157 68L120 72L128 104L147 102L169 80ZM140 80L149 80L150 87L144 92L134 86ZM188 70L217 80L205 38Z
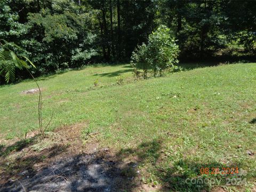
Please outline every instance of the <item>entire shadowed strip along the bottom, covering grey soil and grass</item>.
M166 164L172 154L166 156L162 151L161 139L117 153L110 153L106 148L91 154L65 155L65 151L66 147L56 145L42 153L17 158L14 164L0 164L5 167L2 175L6 181L0 191L19 191L23 187L35 191L148 191L156 186L160 191L209 191L211 184L225 185L226 179L234 175L206 174L201 177L202 167L221 170L222 167L240 166L185 158ZM34 165L43 163L46 158L52 159L51 162L35 170ZM207 178L208 182L197 181L198 178ZM210 179L214 183L209 183Z

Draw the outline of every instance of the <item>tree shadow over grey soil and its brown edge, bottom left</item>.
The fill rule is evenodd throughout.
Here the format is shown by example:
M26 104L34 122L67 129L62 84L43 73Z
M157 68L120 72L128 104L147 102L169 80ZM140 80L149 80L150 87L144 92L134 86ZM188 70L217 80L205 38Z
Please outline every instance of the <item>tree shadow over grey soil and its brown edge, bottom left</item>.
M124 164L108 149L92 154L65 155L67 148L54 146L37 155L17 158L4 168L0 191L126 191L136 187L131 177L135 175L132 164ZM52 161L39 171L34 165ZM2 184L2 186L1 186Z

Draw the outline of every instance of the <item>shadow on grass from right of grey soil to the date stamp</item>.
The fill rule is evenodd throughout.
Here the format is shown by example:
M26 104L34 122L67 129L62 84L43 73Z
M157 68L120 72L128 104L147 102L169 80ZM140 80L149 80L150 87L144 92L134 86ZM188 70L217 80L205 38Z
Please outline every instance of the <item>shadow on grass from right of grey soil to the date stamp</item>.
M122 149L118 155L124 156L123 158L137 156L139 165L149 170L149 173L146 173L147 179L143 182L153 187L155 183L159 183L160 191L210 191L212 187L226 185L232 178L238 177L237 173L222 174L222 168L234 167L234 172L236 167L241 167L241 163L225 165L216 161L202 163L180 158L176 162L171 162L170 166L166 165L173 157L165 156L161 146L161 140L153 140L141 143L135 149ZM206 171L207 174L201 174L202 167L204 170L208 168L209 173ZM220 171L217 172L216 168Z

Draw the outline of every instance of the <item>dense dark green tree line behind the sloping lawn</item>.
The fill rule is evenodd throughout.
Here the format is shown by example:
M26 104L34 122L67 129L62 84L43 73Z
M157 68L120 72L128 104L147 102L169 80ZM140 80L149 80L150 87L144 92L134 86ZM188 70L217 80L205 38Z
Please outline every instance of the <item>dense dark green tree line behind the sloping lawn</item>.
M160 25L178 39L180 59L253 55L255 10L255 1L232 0L1 0L0 39L21 46L36 75L129 61Z

